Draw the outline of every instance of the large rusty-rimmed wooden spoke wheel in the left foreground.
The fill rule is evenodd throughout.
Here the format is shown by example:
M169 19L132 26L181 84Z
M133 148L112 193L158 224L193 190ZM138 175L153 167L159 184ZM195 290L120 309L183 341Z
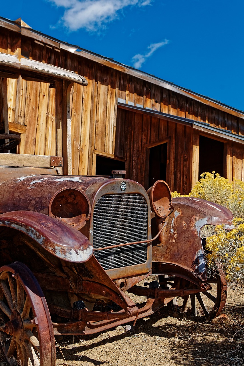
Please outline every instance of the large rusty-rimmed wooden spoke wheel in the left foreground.
M55 365L47 302L33 273L20 262L0 268L0 341L9 365Z

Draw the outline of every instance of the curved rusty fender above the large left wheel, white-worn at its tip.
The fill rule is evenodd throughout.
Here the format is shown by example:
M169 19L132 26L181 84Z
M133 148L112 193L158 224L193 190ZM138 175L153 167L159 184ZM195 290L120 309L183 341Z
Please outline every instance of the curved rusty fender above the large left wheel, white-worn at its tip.
M80 231L39 212L12 211L0 214L0 226L25 233L64 261L86 262L93 253L92 244Z

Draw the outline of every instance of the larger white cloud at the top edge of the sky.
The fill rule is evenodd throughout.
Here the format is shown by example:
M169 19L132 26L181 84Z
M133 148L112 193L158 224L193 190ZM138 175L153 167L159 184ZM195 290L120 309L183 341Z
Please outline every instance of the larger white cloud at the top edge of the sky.
M62 22L70 30L95 30L111 22L118 12L129 5L146 6L154 0L49 0L64 7Z

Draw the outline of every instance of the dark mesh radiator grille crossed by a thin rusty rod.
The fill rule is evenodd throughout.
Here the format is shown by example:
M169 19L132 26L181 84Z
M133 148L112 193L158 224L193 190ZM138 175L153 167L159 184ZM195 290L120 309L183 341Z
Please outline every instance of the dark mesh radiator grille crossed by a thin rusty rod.
M141 194L106 194L99 198L93 212L93 246L147 240L148 207ZM94 251L103 269L145 263L147 243Z

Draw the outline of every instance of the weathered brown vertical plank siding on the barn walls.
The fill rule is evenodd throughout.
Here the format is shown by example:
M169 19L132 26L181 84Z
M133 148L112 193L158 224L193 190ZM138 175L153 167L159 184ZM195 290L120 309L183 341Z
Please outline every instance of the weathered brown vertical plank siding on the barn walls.
M17 26L16 26L17 27ZM1 28L2 30L2 28ZM30 31L29 31L30 32ZM22 30L23 33L23 30ZM24 32L29 34L28 31ZM24 36L3 29L0 52L14 53L21 47L23 57L78 72L88 86L71 90L71 134L73 174L94 172L93 152L125 159L127 177L147 186L148 147L169 138L167 181L181 193L191 190L198 179L199 132L189 126L118 108L127 105L159 111L206 123L219 130L244 135L243 116L191 93L182 95L124 72L121 66L106 66L62 49L45 37ZM105 62L104 62L105 63ZM45 83L8 79L8 118L13 131L21 125L20 153L55 154L55 90ZM188 96L189 94L189 96ZM203 99L203 98L202 98ZM198 145L197 145L198 144ZM243 145L226 140L226 176L244 180Z

